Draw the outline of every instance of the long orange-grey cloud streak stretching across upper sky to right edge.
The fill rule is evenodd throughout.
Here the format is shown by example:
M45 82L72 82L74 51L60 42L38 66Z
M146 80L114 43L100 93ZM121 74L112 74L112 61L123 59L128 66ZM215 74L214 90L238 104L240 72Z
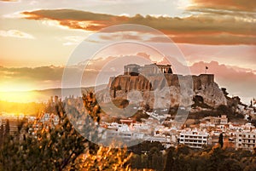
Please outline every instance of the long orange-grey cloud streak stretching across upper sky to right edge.
M51 9L23 12L26 19L57 20L61 26L85 31L99 31L118 24L138 24L153 27L172 37L176 43L195 44L256 44L255 21L245 17L218 17L214 15L192 15L185 18L153 17L137 14L133 17L110 14L95 14L73 9ZM143 32L143 31L142 31ZM143 35L128 35L138 39ZM102 39L111 37L102 36ZM161 41L158 37L152 41Z

